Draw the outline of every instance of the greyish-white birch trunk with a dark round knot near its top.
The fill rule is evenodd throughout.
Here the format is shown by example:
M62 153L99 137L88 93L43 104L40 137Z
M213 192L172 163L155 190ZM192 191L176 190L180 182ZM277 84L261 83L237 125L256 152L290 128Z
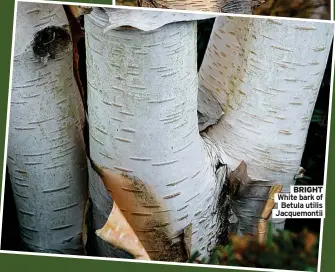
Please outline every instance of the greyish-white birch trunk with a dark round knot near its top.
M86 161L61 5L18 3L8 172L27 250L83 254Z

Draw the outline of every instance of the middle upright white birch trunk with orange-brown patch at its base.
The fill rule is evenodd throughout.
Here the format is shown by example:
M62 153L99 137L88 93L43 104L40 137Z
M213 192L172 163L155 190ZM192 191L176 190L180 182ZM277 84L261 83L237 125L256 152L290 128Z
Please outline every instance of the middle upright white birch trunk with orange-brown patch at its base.
M91 169L94 213L105 224L109 193L151 259L207 256L218 192L197 127L196 22L104 31L110 19L98 9L85 16L90 153L106 187Z

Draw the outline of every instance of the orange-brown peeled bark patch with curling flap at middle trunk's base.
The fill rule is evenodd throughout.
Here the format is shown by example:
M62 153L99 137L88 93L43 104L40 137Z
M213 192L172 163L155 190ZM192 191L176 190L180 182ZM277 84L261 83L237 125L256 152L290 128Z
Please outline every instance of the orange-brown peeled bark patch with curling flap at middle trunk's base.
M132 253L137 259L151 258L180 262L187 260L182 241L172 239L169 223L171 218L167 212L164 212L164 204L156 199L148 185L136 177L116 174L103 168L97 169L97 166L94 166L93 169L99 173L107 191L115 201L104 227L97 230L100 238L117 248ZM98 180L98 182L101 181ZM120 212L127 222L124 222ZM120 217L121 220L116 221L117 217ZM125 230L128 223L136 235L132 234L131 230ZM122 232L122 230L124 230L123 233L129 234L117 236L115 232ZM137 239L136 236L141 243L139 245L132 242ZM142 245L146 252L141 249Z

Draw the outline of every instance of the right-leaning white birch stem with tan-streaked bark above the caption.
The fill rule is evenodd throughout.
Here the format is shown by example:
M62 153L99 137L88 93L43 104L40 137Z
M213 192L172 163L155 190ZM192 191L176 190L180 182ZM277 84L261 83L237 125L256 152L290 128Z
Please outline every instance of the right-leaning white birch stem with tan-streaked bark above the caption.
M224 112L207 136L230 169L244 160L258 181L233 206L244 233L257 232L270 186L294 183L333 32L327 23L216 18L199 85Z

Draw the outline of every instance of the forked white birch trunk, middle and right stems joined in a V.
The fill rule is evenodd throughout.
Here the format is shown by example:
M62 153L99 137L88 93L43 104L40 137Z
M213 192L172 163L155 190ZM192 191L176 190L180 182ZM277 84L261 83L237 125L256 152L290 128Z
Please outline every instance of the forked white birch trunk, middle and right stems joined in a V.
M248 166L233 202L243 233L256 233L269 186L287 190L294 182L333 27L218 17L197 101L195 23L142 12L94 9L86 16L99 250L112 254L103 243L113 235L111 196L152 259L208 256L222 231L225 164L230 172L241 160Z

